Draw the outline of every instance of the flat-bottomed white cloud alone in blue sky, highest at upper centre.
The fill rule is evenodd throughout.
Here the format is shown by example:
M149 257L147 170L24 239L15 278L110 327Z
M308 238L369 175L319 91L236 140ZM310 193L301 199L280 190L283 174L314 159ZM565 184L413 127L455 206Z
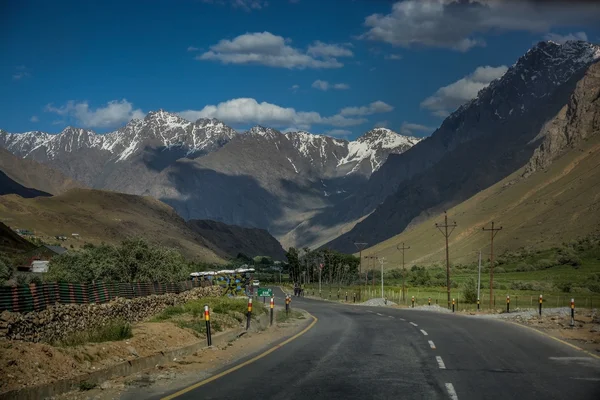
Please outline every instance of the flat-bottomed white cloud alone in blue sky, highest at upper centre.
M333 56L304 53L289 45L291 41L270 32L245 33L232 40L222 39L210 50L196 56L201 61L223 64L254 64L276 68L341 68L344 64ZM319 42L320 43L320 42ZM331 51L332 46L325 45Z

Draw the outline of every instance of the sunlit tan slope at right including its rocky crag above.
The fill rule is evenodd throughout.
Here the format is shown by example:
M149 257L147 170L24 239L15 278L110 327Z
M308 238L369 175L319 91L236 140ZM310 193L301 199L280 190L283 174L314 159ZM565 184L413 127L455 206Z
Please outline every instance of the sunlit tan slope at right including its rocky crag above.
M543 138L521 169L448 211L458 227L450 236L455 263L489 252L481 227L495 221L503 230L495 251L521 246L548 248L596 232L600 225L600 63L586 71L568 104L544 126ZM396 245L411 246L408 262L435 263L445 257L439 214L368 250L397 265Z

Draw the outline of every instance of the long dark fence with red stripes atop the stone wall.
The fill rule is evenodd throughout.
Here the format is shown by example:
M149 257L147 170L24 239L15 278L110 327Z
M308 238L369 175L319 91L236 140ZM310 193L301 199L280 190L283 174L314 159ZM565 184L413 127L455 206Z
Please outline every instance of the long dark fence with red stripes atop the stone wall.
M0 312L28 312L44 310L56 303L89 304L106 303L116 297L143 297L152 294L181 293L195 287L210 286L208 281L175 283L46 282L15 287L0 287Z

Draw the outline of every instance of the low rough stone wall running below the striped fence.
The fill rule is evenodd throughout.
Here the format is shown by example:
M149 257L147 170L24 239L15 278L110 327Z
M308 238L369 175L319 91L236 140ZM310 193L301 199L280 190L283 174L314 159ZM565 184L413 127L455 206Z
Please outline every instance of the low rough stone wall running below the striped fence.
M183 293L117 298L104 304L57 304L43 311L0 314L0 339L52 343L76 331L102 326L111 320L138 322L168 306L208 296L220 296L220 287L200 287Z

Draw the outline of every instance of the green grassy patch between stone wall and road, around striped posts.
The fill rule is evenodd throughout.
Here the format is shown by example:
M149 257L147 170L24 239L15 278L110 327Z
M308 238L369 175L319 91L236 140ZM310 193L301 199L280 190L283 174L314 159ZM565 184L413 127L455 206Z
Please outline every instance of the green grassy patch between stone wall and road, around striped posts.
M210 308L211 330L219 332L239 326L246 321L248 300L246 298L206 297L192 300L182 305L167 307L156 315L152 322L172 322L180 328L191 329L196 336L206 335L204 305ZM253 304L252 318L267 313L267 308L259 302Z

